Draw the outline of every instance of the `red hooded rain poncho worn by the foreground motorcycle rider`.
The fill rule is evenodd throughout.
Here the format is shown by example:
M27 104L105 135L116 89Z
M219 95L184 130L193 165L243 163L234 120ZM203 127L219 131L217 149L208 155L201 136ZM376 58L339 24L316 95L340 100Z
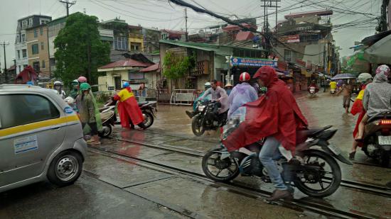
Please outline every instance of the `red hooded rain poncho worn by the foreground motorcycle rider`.
M277 78L275 70L264 66L257 73L260 71L266 74L261 79L267 86L267 94L245 104L245 121L223 140L223 145L229 151L238 150L263 137L273 136L294 154L296 130L306 128L306 118L286 84Z

